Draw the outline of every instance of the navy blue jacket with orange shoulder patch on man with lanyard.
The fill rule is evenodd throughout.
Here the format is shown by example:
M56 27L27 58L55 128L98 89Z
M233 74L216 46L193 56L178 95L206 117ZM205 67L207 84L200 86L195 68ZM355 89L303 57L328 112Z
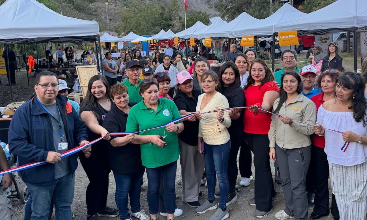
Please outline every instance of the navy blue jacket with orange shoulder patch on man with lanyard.
M80 143L82 140L88 140L88 136L86 125L69 103L67 110L67 101L68 98L62 95L56 97L65 127L68 149L72 149L75 146L74 137L77 138L77 143ZM41 107L35 97L15 111L11 119L8 138L9 149L18 156L19 165L46 161L48 151L55 151L51 116ZM74 172L77 166L77 154L70 155L69 170ZM25 183L50 185L55 177L55 165L48 163L18 173Z

